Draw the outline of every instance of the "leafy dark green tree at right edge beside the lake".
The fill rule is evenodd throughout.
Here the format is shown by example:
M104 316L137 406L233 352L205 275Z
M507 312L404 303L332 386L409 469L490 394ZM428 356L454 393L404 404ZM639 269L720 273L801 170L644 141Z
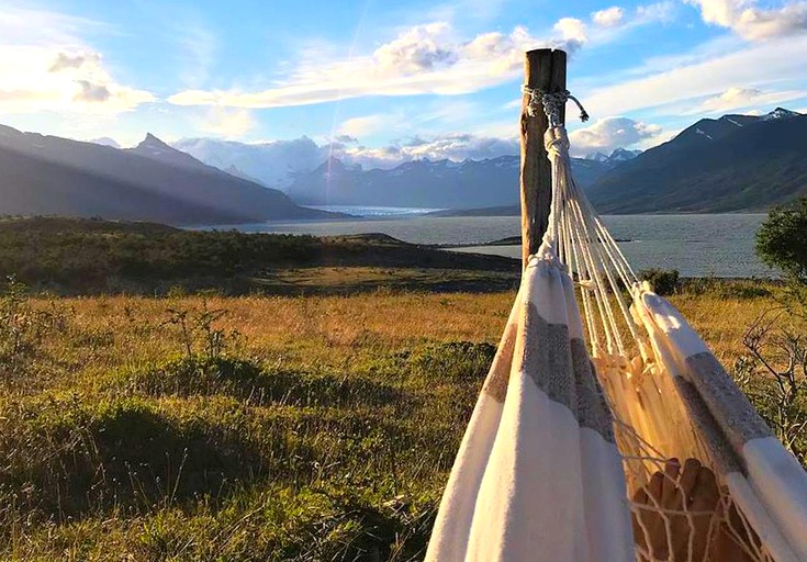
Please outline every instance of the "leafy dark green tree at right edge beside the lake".
M771 210L756 233L756 254L789 281L807 285L807 198Z

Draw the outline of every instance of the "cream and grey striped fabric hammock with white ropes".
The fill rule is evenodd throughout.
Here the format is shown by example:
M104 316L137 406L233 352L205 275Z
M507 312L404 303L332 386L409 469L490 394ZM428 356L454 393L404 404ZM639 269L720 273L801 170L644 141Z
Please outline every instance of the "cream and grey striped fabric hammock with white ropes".
M807 473L575 184L569 93L528 93L549 117L549 228L426 560L807 561Z

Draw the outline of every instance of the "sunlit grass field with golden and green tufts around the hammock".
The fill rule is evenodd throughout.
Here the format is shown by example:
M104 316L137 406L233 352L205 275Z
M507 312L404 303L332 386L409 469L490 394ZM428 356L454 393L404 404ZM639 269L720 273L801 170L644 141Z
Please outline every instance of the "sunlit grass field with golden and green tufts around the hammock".
M513 297L12 292L0 559L418 560ZM728 368L775 304L672 300Z

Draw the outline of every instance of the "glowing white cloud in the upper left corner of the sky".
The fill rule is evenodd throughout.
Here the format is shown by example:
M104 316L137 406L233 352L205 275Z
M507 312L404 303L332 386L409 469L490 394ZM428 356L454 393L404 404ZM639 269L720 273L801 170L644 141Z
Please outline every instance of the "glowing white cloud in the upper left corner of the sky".
M115 114L154 101L117 83L78 36L94 22L4 7L0 13L0 112Z

